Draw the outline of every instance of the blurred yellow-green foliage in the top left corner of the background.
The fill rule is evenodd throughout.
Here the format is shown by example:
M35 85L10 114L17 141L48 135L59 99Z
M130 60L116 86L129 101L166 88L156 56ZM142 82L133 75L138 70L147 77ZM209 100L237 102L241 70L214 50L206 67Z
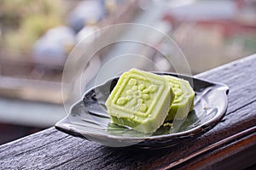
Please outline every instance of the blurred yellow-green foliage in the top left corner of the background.
M61 0L1 0L3 48L30 50L45 31L63 24L65 8L62 3Z

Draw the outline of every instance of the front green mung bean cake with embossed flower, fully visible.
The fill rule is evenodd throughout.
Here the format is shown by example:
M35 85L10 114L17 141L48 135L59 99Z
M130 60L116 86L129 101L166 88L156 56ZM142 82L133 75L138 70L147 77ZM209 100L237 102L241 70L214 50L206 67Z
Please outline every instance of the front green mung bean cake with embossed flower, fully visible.
M112 123L154 133L165 121L174 98L166 77L131 69L119 77L106 106Z

